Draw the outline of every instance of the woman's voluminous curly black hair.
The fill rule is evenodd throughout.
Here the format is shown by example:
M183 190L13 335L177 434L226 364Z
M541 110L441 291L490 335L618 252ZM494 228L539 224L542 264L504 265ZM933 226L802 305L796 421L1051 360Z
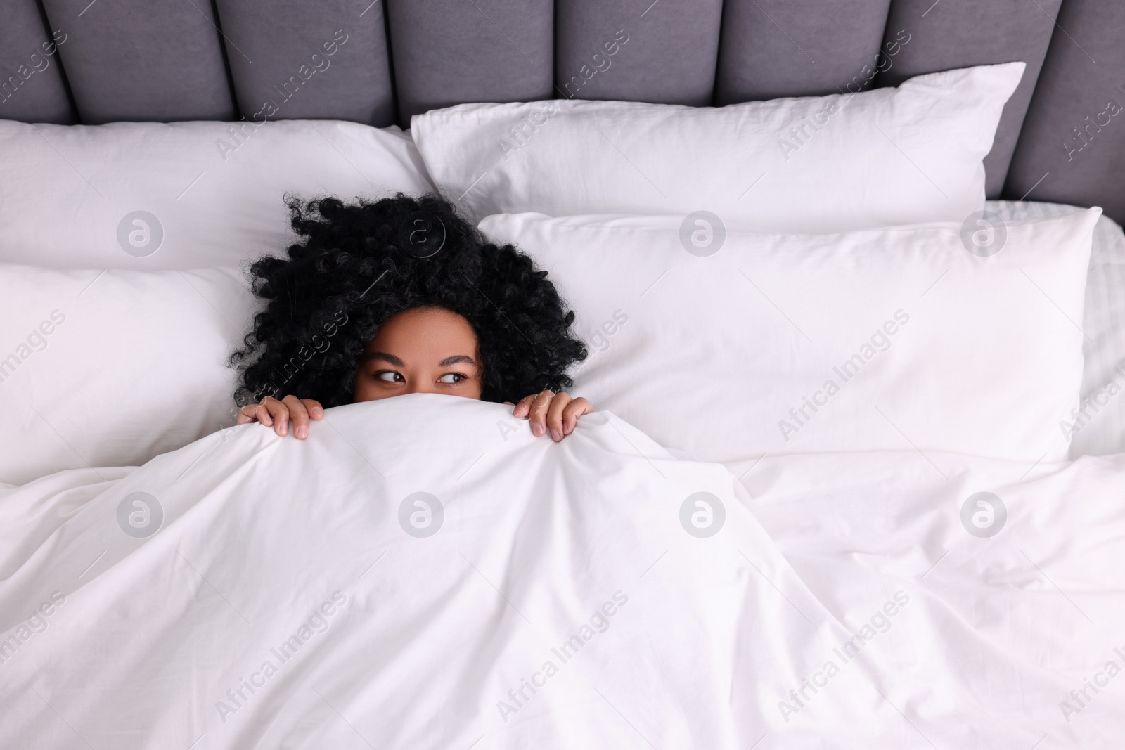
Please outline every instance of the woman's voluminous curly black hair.
M416 307L446 308L472 326L484 400L570 387L567 369L586 358L570 331L574 313L531 257L487 242L449 201L398 193L286 202L300 241L287 259L250 266L254 295L269 301L231 355L240 406L288 394L350 404L363 347L384 322Z

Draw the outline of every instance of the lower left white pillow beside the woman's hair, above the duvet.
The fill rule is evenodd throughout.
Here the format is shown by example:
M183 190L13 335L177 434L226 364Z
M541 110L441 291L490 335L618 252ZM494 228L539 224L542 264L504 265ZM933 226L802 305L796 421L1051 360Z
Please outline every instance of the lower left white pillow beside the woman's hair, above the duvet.
M237 269L0 265L0 482L138 466L233 424Z

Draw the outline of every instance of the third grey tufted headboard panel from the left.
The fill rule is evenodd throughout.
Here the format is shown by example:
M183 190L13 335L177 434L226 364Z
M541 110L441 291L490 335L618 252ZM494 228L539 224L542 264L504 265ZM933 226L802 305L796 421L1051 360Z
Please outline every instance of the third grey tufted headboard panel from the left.
M395 123L381 1L216 2L243 117Z

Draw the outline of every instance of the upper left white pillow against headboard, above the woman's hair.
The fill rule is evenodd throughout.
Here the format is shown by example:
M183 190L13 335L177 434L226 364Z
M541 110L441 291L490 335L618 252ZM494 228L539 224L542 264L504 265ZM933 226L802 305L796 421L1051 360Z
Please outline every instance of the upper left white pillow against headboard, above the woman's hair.
M331 120L0 121L0 261L36 266L238 265L291 242L286 192L433 190L397 127Z

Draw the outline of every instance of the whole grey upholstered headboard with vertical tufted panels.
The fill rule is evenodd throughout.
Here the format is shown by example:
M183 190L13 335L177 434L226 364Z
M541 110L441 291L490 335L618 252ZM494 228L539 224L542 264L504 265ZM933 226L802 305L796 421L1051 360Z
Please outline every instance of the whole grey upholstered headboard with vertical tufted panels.
M1122 0L3 0L0 118L346 119L465 101L696 106L1025 61L989 197L1125 220ZM621 39L623 45L612 47ZM616 54L608 56L606 46Z

